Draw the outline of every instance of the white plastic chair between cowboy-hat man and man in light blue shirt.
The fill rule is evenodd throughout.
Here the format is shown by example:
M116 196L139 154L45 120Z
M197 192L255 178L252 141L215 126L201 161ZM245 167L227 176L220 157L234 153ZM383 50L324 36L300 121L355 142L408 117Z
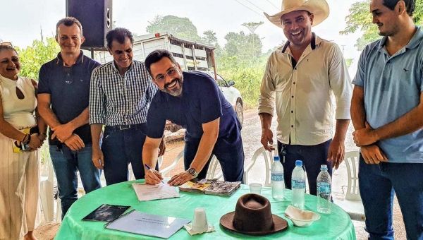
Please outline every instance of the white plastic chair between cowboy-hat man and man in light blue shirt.
M358 162L360 153L358 151L345 152L345 165L347 167L348 185L345 193L345 200L333 198L333 203L340 206L350 215L351 220L365 221L364 207L358 188Z

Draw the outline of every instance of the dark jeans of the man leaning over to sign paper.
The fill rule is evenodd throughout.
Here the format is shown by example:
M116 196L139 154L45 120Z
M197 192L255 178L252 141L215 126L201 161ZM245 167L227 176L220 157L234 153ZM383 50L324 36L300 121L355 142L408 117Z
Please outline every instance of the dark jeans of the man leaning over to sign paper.
M189 138L185 140L184 149L184 167L185 170L190 168L192 160L197 154L200 139ZM225 181L241 181L244 176L244 148L239 131L232 131L228 136L218 138L214 144L212 155L216 155L217 160L221 164L223 179ZM210 160L204 165L203 169L198 173L198 179L204 179L209 169Z

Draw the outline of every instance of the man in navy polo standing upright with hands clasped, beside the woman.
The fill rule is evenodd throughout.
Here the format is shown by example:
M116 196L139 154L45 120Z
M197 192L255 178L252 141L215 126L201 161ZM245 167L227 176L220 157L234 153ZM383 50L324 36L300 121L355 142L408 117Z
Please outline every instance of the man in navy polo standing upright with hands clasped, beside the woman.
M56 42L61 52L39 71L38 111L49 124L50 157L56 172L62 217L78 199L78 170L86 193L102 187L101 172L91 160L88 124L90 78L100 64L84 56L80 50L84 40L81 23L76 18L59 20Z

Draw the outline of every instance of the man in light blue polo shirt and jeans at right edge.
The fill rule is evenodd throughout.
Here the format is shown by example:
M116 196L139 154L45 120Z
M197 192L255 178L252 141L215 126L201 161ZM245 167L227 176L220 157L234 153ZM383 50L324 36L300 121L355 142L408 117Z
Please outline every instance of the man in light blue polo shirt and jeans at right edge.
M415 1L372 0L381 40L360 56L351 103L369 239L393 239L396 193L407 239L423 239L423 30Z

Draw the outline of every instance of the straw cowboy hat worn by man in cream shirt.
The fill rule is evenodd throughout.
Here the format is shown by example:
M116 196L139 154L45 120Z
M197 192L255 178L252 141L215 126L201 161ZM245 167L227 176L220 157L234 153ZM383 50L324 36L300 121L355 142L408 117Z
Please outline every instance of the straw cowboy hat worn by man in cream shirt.
M282 11L280 13L276 13L274 16L269 16L267 13L264 13L264 15L271 23L283 28L281 17L286 13L300 10L313 13L314 26L323 22L329 16L329 5L325 0L282 0Z

